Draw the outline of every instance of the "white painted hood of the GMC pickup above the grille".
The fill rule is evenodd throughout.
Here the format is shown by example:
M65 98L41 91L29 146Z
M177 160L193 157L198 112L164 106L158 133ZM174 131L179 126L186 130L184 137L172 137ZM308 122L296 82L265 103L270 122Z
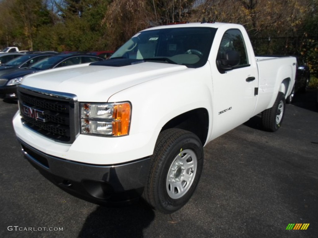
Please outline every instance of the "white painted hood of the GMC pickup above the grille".
M187 69L183 65L154 62L121 67L80 64L28 75L22 84L72 93L80 102L107 102L110 96L119 91Z

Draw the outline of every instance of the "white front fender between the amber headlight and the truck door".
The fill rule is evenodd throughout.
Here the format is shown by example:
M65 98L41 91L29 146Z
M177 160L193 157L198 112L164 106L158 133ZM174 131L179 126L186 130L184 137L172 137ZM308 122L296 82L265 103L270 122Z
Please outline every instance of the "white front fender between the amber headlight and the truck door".
M153 136L157 138L168 121L187 111L206 108L209 118L212 118L211 92L211 70L206 64L201 68L187 68L135 85L114 94L108 101L131 102L130 135L154 131L156 134ZM149 146L154 148L155 145Z

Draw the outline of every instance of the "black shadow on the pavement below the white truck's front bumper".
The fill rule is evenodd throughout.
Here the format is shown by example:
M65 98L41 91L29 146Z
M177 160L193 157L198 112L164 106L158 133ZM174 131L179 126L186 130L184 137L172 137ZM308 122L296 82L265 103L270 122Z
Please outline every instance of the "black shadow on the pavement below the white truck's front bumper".
M78 237L144 237L154 211L142 200L125 207L98 206L87 218Z

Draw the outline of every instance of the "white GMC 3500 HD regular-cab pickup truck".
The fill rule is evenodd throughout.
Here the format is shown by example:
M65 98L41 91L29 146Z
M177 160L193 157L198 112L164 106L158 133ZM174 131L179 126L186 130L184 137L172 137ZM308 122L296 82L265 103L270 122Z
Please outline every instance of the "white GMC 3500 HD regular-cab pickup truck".
M279 129L295 72L294 57L255 57L238 24L153 27L108 60L26 76L13 126L29 162L69 193L142 195L172 213L197 187L204 145L259 113Z

